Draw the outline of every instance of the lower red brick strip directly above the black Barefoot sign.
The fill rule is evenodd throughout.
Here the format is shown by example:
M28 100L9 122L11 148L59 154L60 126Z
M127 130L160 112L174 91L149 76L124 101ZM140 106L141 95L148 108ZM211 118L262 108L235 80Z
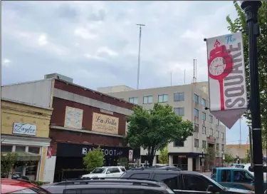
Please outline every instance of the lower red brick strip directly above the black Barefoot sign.
M91 133L80 133L75 131L63 131L51 128L49 133L51 138L52 155L56 155L57 142L65 143L90 143L99 146L126 146L123 138L101 136Z

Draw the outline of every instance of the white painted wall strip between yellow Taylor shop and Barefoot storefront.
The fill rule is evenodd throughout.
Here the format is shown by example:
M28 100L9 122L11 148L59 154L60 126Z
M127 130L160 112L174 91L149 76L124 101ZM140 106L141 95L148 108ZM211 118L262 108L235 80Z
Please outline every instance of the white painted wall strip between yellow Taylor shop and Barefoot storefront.
M43 182L53 183L55 167L56 156L52 156L51 158L48 158L48 156L46 156L46 165L45 169L43 170Z

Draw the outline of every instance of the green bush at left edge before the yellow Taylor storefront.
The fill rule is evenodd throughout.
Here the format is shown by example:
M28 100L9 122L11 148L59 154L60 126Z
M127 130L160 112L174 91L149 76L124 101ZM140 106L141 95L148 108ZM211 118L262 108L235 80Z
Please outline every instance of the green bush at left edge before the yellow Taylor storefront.
M17 158L17 153L1 153L1 177L9 177Z

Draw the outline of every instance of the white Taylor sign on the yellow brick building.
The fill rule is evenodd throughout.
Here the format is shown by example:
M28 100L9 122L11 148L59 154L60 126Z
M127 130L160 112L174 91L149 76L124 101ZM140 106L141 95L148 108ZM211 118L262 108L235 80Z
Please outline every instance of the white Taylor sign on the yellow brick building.
M36 125L27 124L27 123L14 123L13 133L28 135L28 136L36 136Z

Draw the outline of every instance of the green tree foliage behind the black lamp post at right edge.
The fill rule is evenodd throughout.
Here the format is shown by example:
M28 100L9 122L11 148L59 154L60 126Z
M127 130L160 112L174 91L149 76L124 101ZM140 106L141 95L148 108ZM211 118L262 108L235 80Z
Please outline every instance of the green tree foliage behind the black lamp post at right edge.
M266 148L266 131L267 131L267 1L262 1L263 4L258 10L258 26L261 29L261 35L258 37L258 81L260 88L260 103L261 103L261 123L262 123L262 139L263 147ZM238 1L234 1L234 6L238 17L231 20L230 16L226 17L226 21L229 26L228 29L231 33L238 31L246 31L246 16L244 11L241 9ZM248 36L243 34L244 40L244 58L246 67L246 84L247 84L247 95L250 98L250 76L249 76L249 61L248 61ZM251 123L251 113L246 111L245 117L248 122Z

